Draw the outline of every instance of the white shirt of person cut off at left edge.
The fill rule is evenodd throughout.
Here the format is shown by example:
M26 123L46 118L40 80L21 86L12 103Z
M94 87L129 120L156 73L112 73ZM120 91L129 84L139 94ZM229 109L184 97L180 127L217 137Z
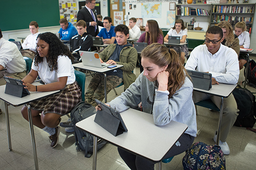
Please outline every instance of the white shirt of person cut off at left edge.
M15 43L0 39L0 65L10 74L27 70L26 61Z

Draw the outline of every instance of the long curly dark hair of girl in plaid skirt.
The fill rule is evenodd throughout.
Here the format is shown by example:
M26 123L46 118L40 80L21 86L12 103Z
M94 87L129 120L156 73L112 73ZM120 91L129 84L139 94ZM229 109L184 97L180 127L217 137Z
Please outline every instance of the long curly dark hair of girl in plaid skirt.
M50 32L42 33L37 36L37 39L38 38L44 40L49 44L47 63L51 71L56 71L58 69L57 60L59 55L68 56L71 61L74 60L74 57L69 51L68 47L64 45L55 34ZM43 57L40 57L38 52L36 51L35 65L38 66L38 63L42 61Z

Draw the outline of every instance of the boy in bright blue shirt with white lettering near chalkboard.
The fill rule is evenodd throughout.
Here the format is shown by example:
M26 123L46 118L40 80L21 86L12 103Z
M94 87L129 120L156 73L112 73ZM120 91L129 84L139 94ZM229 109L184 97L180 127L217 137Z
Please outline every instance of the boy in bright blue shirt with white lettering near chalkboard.
M61 28L59 29L59 35L61 40L70 40L75 35L78 35L76 28L71 22L68 22L66 18L59 20Z

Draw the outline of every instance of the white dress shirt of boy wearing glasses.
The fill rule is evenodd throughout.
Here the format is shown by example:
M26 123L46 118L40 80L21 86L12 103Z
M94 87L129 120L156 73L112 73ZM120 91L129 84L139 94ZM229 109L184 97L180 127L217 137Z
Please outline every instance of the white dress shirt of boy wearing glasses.
M219 83L236 84L239 78L239 62L237 53L225 45L219 51L211 54L207 46L199 45L190 53L185 68L211 73Z

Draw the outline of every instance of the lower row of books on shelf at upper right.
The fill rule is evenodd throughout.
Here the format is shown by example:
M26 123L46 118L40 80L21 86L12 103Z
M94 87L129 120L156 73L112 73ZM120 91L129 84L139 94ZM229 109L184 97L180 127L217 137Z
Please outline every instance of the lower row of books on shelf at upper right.
M220 22L222 20L227 20L231 25L235 25L237 22L244 21L246 24L252 24L253 17L239 17L239 16L229 16L229 15L212 15L212 22Z

